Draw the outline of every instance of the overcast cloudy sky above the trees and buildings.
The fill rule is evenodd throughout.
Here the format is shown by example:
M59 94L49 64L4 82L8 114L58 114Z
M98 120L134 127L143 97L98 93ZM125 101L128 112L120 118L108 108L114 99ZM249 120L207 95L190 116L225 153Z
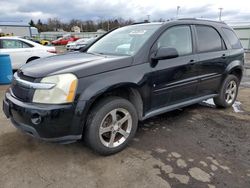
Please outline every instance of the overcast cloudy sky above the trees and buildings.
M176 17L218 19L222 7L225 21L249 21L249 0L0 0L0 21L59 18L99 20L122 17L142 21Z

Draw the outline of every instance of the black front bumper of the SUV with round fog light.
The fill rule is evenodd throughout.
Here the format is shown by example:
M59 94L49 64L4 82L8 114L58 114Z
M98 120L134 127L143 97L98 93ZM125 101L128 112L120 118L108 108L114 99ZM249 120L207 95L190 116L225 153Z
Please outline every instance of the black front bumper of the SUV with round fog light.
M81 139L84 102L80 106L25 103L10 92L6 92L3 101L3 111L16 128L33 137L61 143Z

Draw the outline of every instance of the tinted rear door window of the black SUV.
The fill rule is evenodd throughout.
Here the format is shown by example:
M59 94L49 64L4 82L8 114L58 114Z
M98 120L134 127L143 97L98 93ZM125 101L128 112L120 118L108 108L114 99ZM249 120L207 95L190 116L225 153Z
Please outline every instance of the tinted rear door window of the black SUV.
M209 26L196 26L198 52L213 52L224 49L224 42L219 33Z

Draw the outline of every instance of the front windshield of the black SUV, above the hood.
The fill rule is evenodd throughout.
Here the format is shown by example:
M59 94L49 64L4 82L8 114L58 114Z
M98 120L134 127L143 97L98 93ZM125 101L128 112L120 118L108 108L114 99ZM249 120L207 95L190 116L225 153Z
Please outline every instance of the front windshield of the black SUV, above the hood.
M94 43L87 53L134 55L161 25L131 25L107 34Z

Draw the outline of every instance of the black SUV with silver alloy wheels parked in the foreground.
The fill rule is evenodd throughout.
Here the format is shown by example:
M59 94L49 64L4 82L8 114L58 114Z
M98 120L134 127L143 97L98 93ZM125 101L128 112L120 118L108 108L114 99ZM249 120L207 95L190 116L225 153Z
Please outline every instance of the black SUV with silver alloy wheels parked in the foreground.
M81 52L35 60L14 75L3 109L34 137L83 138L96 152L121 151L138 120L213 98L230 107L244 51L222 22L181 19L115 29Z

